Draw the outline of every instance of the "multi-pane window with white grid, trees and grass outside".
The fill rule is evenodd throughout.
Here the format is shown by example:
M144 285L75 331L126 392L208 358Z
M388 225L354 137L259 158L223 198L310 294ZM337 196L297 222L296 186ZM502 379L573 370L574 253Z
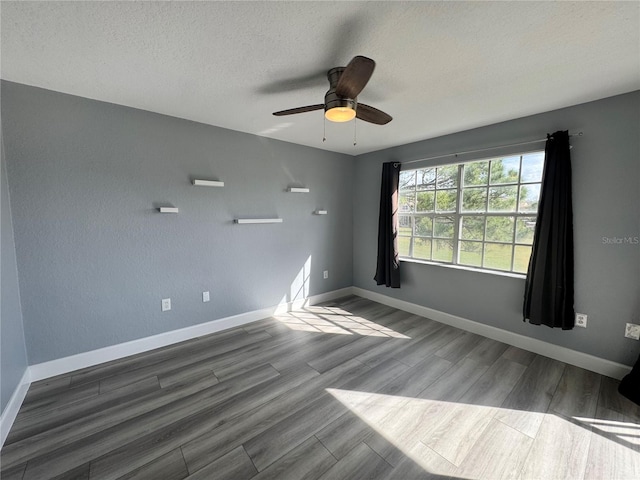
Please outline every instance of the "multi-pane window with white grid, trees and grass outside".
M400 257L526 273L544 152L400 172Z

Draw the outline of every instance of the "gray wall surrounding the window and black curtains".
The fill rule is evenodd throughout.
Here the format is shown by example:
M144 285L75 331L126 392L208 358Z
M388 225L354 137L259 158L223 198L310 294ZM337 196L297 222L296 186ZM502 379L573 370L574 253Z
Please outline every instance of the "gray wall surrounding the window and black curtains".
M588 328L561 331L522 322L524 280L442 266L401 263L400 290L373 281L381 164L545 138L572 139L575 307ZM640 323L640 245L606 244L603 237L640 236L640 92L373 152L356 158L354 285L522 335L631 365L640 343L624 338ZM539 144L544 148L544 143ZM501 155L523 148L481 154ZM528 147L529 149L531 147ZM474 158L461 156L460 160ZM448 159L455 162L455 159ZM407 165L436 165L432 160Z

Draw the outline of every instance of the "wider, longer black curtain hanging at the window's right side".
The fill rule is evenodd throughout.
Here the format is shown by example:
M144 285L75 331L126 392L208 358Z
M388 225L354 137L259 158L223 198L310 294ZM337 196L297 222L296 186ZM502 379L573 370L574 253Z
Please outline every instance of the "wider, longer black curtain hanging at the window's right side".
M547 135L545 166L524 293L524 320L570 330L573 309L573 208L569 132Z

